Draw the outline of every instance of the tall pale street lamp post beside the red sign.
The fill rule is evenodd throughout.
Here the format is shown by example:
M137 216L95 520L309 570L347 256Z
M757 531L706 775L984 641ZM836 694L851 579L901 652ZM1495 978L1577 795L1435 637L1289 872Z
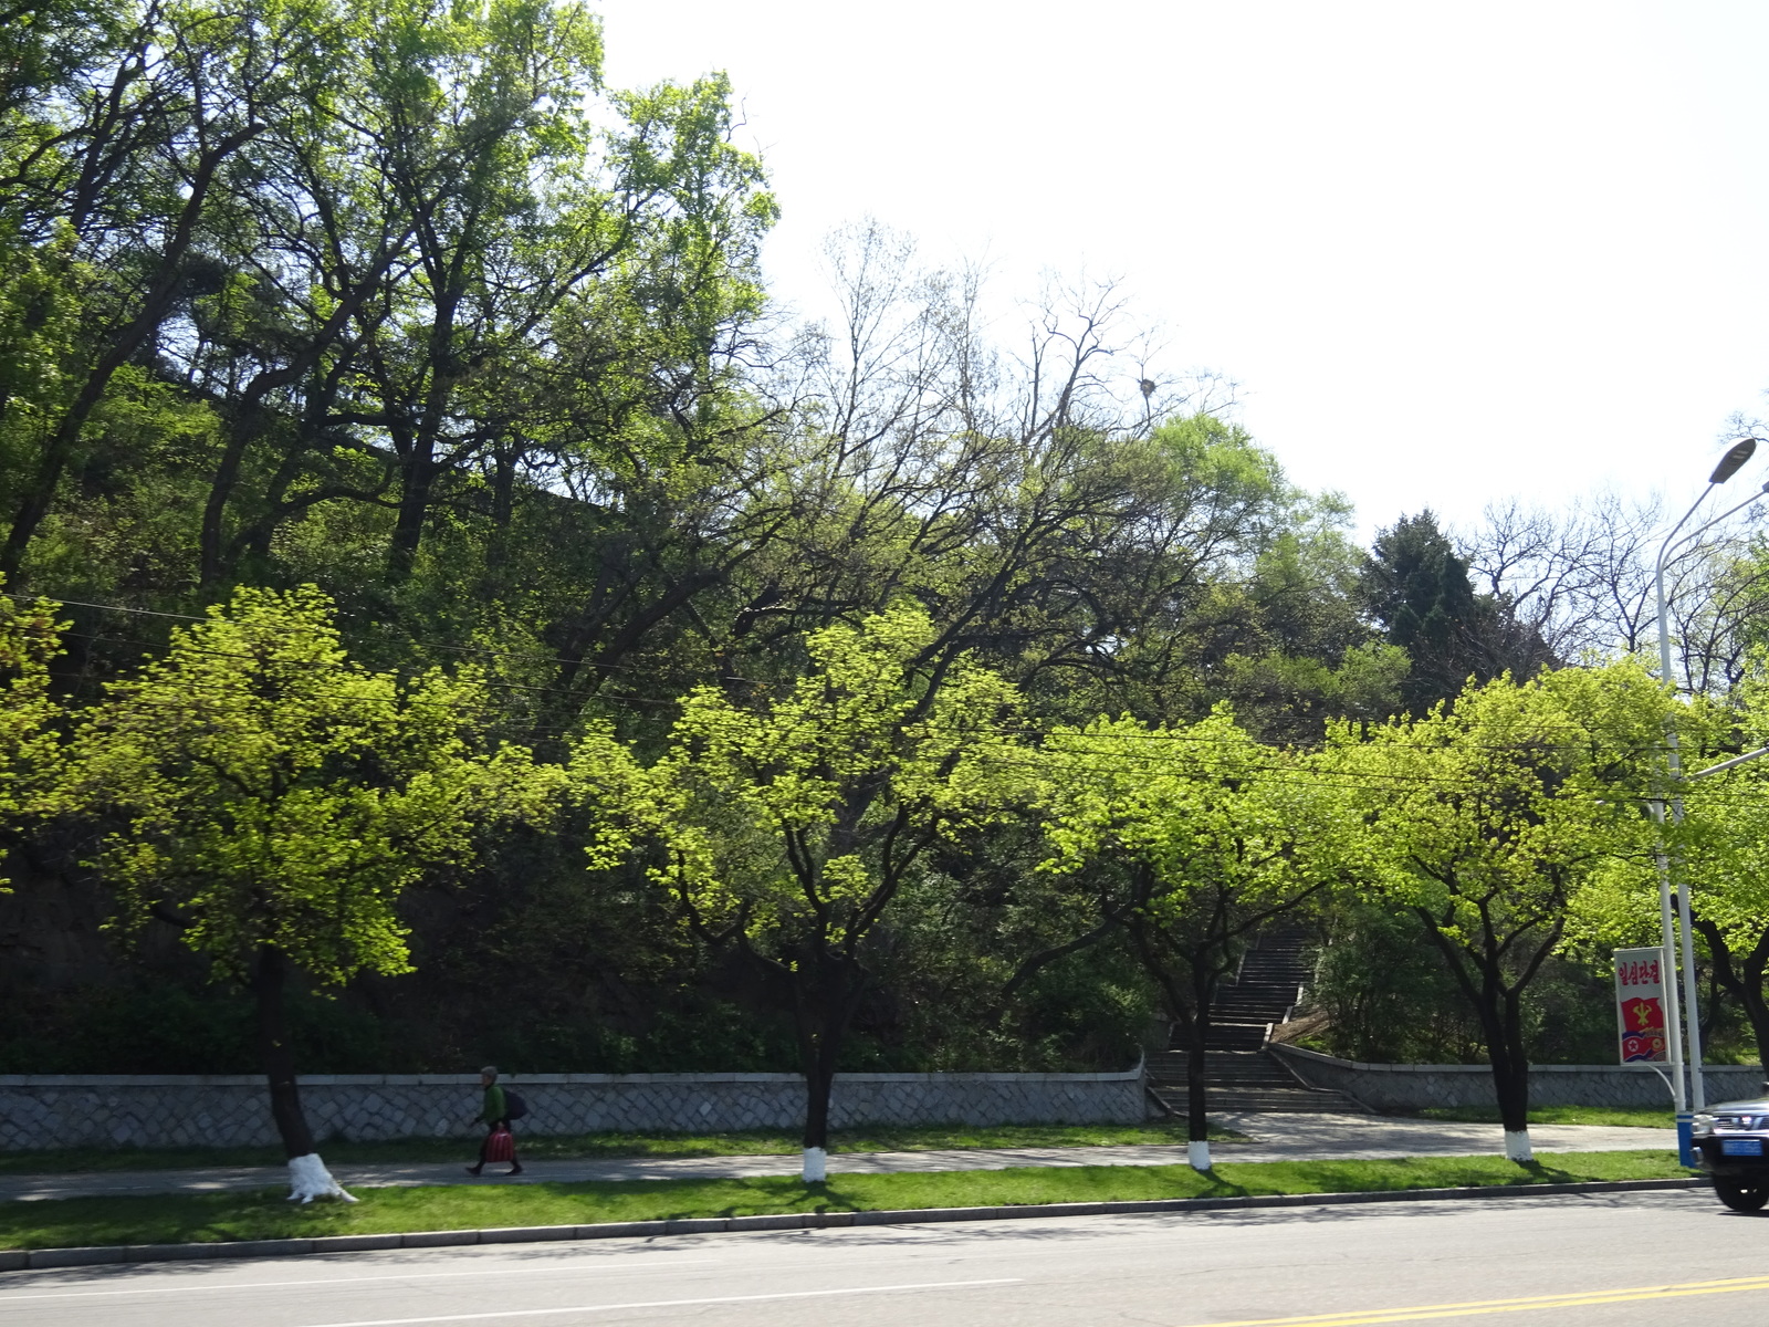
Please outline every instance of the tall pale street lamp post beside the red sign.
M1658 594L1659 678L1663 681L1666 681L1666 683L1672 683L1673 679L1672 679L1672 671L1670 671L1670 616L1668 616L1668 609L1666 609L1666 603L1665 603L1665 563L1670 557L1670 550L1673 547L1686 545L1691 540L1696 540L1698 536L1702 536L1704 533L1707 533L1709 529L1712 529L1714 525L1718 525L1721 520L1725 520L1727 517L1730 517L1730 515L1734 515L1737 511L1742 511L1744 508L1748 508L1751 502L1755 502L1760 497L1760 494L1751 494L1748 499L1744 499L1737 506L1728 508L1727 511L1721 511L1718 517L1712 517L1711 520L1704 522L1696 529L1693 529L1688 534L1684 534L1681 540L1677 538L1677 531L1681 531L1686 524L1689 524L1689 517L1693 517L1695 510L1698 506L1702 506L1702 502L1707 501L1707 495L1716 487L1723 485L1727 479L1730 479L1734 474L1737 474L1744 467L1744 462L1748 462L1755 451L1757 451L1757 439L1755 437L1746 437L1746 439L1741 439L1739 442L1734 442L1732 448L1727 451L1727 455L1719 458L1719 464L1714 467L1714 472L1711 476L1707 476L1707 488L1704 488L1702 494L1700 494L1700 497L1696 497L1695 502L1689 504L1689 510L1682 513L1682 520L1679 520L1675 525L1672 525L1670 534L1665 536L1665 543L1659 545L1658 563L1652 568L1652 586L1654 586L1654 593ZM1764 485L1762 492L1769 494L1769 483ZM1668 773L1670 773L1670 819L1672 819L1673 825L1681 825L1682 823L1682 798L1677 794L1677 782L1682 779L1682 754L1681 754L1679 745L1677 745L1677 725L1675 725L1675 722L1666 722L1666 725L1665 725L1665 747L1666 747L1666 752L1665 752L1665 756L1666 756L1666 768L1668 768ZM1704 770L1702 773L1709 773L1709 771ZM1656 819L1659 825L1663 825L1665 823L1665 812L1666 812L1665 800L1663 798L1656 800L1652 803L1652 819ZM1695 940L1691 936L1691 927L1689 927L1689 885L1688 885L1688 881L1684 881L1682 888L1677 890L1677 925L1673 927L1672 925L1670 858L1665 853L1663 837L1659 839L1658 872L1659 872L1659 948L1665 954L1666 975L1672 978L1672 980L1665 982L1665 994L1668 996L1668 1000L1666 1000L1668 1007L1666 1007L1665 1012L1666 1012L1666 1030L1670 1032L1672 1102L1673 1102L1673 1106L1677 1109L1677 1148L1682 1154L1682 1162L1688 1166L1688 1164L1695 1164L1695 1154L1691 1150L1691 1141L1689 1141L1691 1115L1693 1115L1693 1111L1700 1111L1700 1109L1704 1109L1707 1106L1707 1092L1705 1092L1704 1083L1702 1083L1702 1024L1700 1024L1700 1014L1698 1014L1698 1009L1696 1009ZM1675 963L1675 952L1673 952L1673 947L1672 947L1672 934L1673 934L1673 931L1675 931L1675 934L1681 936L1681 941L1682 941L1681 943L1681 950L1682 950L1682 954L1681 954L1681 957L1682 957L1682 993L1681 993L1682 1000L1681 1001L1679 1001L1679 991L1677 991L1677 980L1675 980L1677 963ZM1681 1010L1682 1012L1682 1026L1686 1030L1688 1046L1689 1046L1689 1095L1693 1095L1693 1101L1689 1099L1689 1095L1684 1095L1684 1081L1682 1081L1682 1040L1684 1039L1677 1035L1679 1033L1679 1009L1677 1009L1679 1003L1682 1005L1682 1010Z

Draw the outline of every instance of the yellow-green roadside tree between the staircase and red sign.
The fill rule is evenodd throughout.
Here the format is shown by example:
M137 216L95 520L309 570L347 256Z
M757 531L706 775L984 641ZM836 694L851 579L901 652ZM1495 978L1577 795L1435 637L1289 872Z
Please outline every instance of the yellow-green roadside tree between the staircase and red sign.
M1629 662L1470 683L1454 708L1332 731L1366 885L1419 920L1479 1017L1512 1161L1532 1155L1523 993L1581 894L1650 853L1665 706Z

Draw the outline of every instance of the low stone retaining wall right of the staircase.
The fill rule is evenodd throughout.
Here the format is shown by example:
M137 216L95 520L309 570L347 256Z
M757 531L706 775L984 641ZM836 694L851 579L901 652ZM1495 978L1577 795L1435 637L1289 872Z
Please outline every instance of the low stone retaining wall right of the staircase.
M1493 1070L1486 1065L1366 1065L1298 1046L1272 1049L1309 1086L1344 1092L1375 1111L1493 1104ZM1709 1102L1764 1092L1758 1065L1709 1065L1702 1078ZM1530 1065L1530 1104L1670 1109L1670 1086L1649 1065Z

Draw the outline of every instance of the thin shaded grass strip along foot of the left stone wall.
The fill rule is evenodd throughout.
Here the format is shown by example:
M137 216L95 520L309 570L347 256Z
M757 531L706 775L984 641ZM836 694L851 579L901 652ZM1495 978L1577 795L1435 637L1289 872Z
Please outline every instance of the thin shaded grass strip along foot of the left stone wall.
M796 1134L570 1134L534 1138L517 1125L524 1161L582 1161L587 1157L743 1157L793 1155ZM992 1129L966 1125L927 1129L863 1129L833 1136L831 1152L934 1152L978 1147L1116 1147L1123 1143L1183 1143L1185 1124L1146 1125L1024 1124ZM1214 1143L1245 1143L1245 1134L1212 1127ZM479 1138L396 1138L386 1143L320 1143L327 1162L403 1162L472 1159ZM177 1148L55 1148L0 1152L0 1175L67 1175L94 1170L191 1170L200 1166L281 1166L274 1147Z

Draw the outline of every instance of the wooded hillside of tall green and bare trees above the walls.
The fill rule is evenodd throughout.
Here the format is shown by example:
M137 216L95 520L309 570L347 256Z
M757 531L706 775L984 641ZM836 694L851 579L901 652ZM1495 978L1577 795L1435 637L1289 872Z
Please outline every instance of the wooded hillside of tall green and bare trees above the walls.
M729 81L609 87L573 0L0 42L0 1072L800 1069L816 1132L1201 1046L1279 917L1323 1049L1507 1122L1612 1058L1663 725L1769 722L1760 541L1673 568L1677 694L1654 510L1366 550L1122 292L1001 336L877 225L794 317ZM1704 796L1755 1058L1769 784Z

